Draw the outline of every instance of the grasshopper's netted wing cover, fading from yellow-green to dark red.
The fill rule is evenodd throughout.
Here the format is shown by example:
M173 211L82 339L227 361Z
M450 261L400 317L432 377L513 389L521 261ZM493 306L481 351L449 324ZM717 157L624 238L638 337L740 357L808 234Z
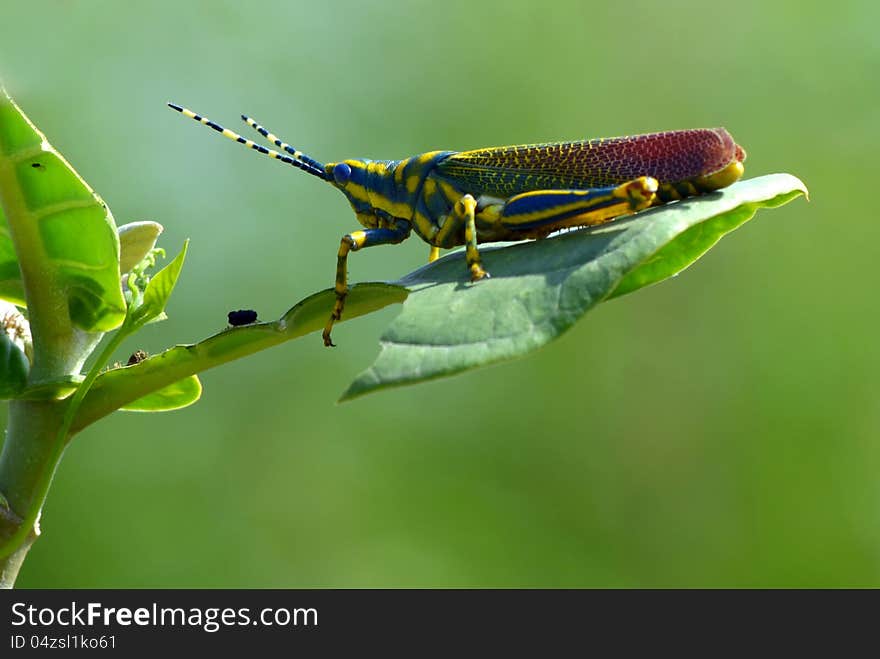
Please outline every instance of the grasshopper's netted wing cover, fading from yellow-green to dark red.
M617 185L639 176L674 183L743 159L745 152L724 128L695 128L463 151L439 163L438 173L468 191L506 197Z

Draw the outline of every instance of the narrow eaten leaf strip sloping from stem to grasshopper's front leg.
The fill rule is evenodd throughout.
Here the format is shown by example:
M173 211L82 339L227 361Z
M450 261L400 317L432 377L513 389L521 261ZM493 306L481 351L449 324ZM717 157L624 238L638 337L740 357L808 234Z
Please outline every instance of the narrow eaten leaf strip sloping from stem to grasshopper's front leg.
M392 284L357 284L348 294L344 320L402 302L406 296L405 288ZM274 322L226 328L199 343L175 346L139 364L105 371L83 399L71 430L78 432L114 410L191 375L323 329L335 300L336 294L330 288L302 300ZM315 342L320 344L320 339Z

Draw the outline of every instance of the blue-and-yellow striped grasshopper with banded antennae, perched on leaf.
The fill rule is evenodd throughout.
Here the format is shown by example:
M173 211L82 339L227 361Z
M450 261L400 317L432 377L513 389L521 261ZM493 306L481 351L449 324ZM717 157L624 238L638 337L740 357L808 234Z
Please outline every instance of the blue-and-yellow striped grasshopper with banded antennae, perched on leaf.
M696 128L579 142L474 151L431 151L405 160L321 164L242 119L287 156L172 103L169 107L255 151L340 189L365 227L342 237L336 303L324 345L342 317L348 254L399 243L413 231L431 250L465 246L470 277L488 277L479 243L544 238L559 229L602 224L649 206L726 187L743 174L745 151L724 128Z

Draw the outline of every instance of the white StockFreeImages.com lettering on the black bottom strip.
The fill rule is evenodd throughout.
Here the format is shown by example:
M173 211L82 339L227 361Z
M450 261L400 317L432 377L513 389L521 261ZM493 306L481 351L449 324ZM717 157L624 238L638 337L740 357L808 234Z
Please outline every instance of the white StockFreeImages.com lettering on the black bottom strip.
M38 608L25 602L12 605L12 625L20 627L193 627L213 633L222 627L317 627L318 611L314 608L265 608L256 615L248 607L105 607L100 602L85 605Z

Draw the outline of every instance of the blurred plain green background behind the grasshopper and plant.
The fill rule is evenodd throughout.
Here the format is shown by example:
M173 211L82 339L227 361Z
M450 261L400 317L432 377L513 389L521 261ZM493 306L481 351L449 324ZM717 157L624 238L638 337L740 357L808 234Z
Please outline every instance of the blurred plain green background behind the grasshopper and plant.
M726 126L810 187L530 357L336 405L397 313L71 445L24 587L880 586L873 2L5 2L0 77L117 223L191 238L158 352L331 285L318 159ZM246 127L245 127L246 128ZM417 239L353 281L421 265Z

